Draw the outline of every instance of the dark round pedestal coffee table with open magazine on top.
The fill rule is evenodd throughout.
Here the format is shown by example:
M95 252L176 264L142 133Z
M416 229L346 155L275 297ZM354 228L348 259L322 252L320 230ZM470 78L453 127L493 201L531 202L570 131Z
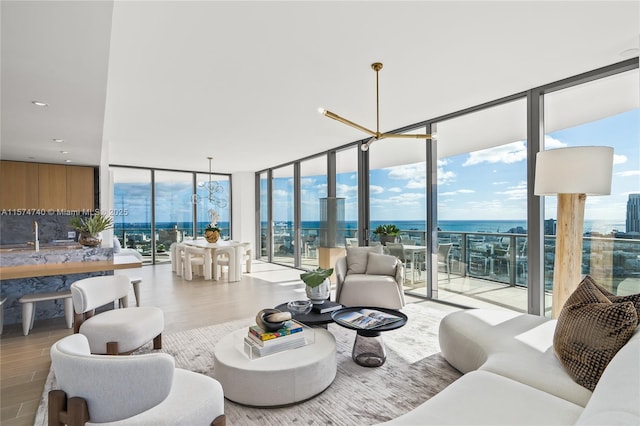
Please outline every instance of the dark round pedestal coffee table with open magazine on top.
M381 325L379 327L371 329L363 329L345 321L341 321L341 317L347 314L358 312L362 309L370 309L373 311L379 311L386 314L399 317L400 320L392 322L391 324ZM387 352L384 348L384 342L382 341L382 332L395 330L407 323L407 316L395 309L376 308L371 306L354 306L351 308L344 308L332 313L332 317L336 324L356 330L356 340L353 342L353 350L351 352L351 358L356 364L363 367L380 367L387 360Z

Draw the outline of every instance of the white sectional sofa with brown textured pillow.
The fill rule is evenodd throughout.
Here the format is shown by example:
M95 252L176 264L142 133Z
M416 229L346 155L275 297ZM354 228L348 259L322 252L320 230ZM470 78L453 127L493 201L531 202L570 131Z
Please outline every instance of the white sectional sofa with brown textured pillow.
M578 385L553 351L556 321L465 310L440 325L442 355L465 373L397 425L640 425L640 327L600 377Z

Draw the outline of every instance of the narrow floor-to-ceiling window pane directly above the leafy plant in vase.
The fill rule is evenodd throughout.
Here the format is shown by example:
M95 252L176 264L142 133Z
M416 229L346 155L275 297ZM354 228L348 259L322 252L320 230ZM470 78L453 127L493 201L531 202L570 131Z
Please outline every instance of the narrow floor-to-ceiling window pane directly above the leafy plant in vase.
M300 162L300 264L319 266L320 200L327 197L327 156Z

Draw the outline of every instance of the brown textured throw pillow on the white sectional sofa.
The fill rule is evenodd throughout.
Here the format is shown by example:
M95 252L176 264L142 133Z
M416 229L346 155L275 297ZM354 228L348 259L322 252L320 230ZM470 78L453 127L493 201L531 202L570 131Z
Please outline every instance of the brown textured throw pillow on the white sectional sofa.
M560 311L553 349L576 383L593 390L637 326L635 304L613 303L587 276Z

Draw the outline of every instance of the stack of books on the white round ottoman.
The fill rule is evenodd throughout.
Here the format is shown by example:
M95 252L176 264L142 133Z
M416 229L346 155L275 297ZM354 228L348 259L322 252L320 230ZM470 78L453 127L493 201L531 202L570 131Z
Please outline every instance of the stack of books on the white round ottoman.
M277 331L265 331L252 325L244 338L245 353L252 359L304 345L304 326L293 320L285 322L284 327Z

